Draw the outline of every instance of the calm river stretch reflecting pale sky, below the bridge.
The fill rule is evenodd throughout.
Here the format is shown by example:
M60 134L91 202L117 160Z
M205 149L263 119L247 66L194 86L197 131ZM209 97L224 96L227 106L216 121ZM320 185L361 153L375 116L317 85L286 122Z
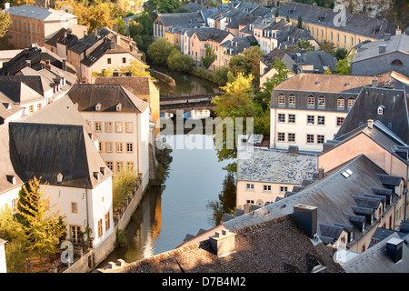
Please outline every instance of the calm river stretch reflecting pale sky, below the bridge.
M127 245L115 249L100 267L118 258L133 262L174 249L187 233L195 236L200 228L214 227L214 216L220 216L227 204L234 206L234 178L223 169L231 161L218 162L215 149L205 149L213 144L212 136L189 135L185 140L186 136L165 136L174 149L164 189L149 189L126 228ZM202 141L204 149L188 149L193 146L187 140L199 141L196 147ZM175 148L185 143L185 148Z

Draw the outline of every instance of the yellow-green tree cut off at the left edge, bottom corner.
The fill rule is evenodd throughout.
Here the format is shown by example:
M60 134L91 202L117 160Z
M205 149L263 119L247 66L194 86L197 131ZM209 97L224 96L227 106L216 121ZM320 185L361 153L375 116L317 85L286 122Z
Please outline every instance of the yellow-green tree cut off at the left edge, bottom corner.
M0 237L5 244L7 273L23 273L25 268L25 231L10 207L0 209Z

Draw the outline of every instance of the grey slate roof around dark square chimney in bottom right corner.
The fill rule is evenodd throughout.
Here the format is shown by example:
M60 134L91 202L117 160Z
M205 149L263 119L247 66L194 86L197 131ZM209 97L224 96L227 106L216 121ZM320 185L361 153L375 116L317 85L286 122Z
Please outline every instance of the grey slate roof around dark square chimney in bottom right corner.
M399 239L400 236L393 234L384 238L381 242L368 248L364 253L355 256L343 266L346 273L408 273L409 272L409 248L403 244L403 256L400 261L394 263L386 252L386 243L390 239ZM409 235L406 236L406 240Z

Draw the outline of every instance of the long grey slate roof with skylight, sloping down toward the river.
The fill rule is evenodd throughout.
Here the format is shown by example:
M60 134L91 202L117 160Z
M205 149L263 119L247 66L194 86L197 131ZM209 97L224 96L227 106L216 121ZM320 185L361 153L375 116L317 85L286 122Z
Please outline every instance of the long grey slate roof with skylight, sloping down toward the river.
M345 178L342 173L346 169L350 169L353 175ZM356 216L351 208L351 206L356 206L354 196L373 193L373 187L387 189L377 176L377 174L386 173L366 156L361 155L326 174L327 176L324 176L323 179L316 180L313 184L306 186L304 190L255 210L254 214L246 214L229 220L224 223L224 227L234 232L244 227L254 226L276 217L291 214L293 213L293 206L303 204L318 207L318 224L353 226L354 240L347 246L354 245L374 227L374 224L366 224L365 231L362 233L357 226L354 226L353 217L363 218L364 221L364 216ZM393 199L397 199L397 196L394 195ZM386 212L391 211L391 207L391 205L386 206ZM318 236L320 235L318 228Z

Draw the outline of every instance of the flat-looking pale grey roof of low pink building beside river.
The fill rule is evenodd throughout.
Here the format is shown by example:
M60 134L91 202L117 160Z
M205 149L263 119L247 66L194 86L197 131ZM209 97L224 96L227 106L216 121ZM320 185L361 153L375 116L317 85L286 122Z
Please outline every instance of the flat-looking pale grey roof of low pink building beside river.
M301 185L316 171L315 155L255 148L237 159L237 181Z

